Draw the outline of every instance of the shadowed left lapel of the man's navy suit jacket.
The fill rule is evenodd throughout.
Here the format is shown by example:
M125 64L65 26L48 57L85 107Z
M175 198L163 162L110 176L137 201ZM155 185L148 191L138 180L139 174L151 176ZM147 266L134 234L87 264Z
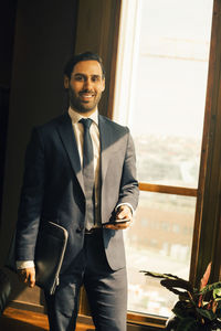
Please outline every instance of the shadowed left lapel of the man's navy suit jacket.
M84 180L83 180L83 174L81 169L78 149L77 149L76 139L72 127L72 121L69 114L65 114L60 118L57 130L62 139L62 142L64 145L64 148L67 152L67 156L70 158L71 166L75 172L80 186L82 188L82 191L84 193Z

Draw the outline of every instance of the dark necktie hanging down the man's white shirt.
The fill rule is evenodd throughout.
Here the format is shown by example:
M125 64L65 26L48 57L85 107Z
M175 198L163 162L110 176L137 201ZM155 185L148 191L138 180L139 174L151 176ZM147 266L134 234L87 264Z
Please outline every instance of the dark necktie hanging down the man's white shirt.
M92 137L90 135L90 127L92 125L91 118L82 118L80 122L84 126L84 142L83 142L83 178L84 190L86 197L86 228L94 226L94 150Z

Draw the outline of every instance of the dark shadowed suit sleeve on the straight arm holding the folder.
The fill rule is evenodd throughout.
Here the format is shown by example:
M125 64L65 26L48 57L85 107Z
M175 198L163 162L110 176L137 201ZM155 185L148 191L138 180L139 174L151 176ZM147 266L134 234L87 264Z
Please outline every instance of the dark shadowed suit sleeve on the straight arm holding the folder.
M27 148L24 175L21 189L15 259L33 260L44 195L44 148L36 129L33 129Z

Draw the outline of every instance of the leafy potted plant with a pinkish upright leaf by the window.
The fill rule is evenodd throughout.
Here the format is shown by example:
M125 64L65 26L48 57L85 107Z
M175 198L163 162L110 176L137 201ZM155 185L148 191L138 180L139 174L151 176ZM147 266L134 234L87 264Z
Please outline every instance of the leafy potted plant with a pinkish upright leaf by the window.
M221 330L221 281L208 285L211 263L200 281L199 289L193 288L190 281L170 274L141 273L160 278L164 287L179 296L179 300L172 308L175 316L168 320L166 330Z

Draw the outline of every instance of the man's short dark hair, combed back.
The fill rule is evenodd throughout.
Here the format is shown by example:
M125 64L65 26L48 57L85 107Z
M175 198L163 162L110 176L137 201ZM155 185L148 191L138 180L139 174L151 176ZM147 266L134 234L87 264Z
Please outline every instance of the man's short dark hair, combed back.
M97 61L101 64L103 78L105 77L105 68L102 62L102 58L98 54L93 52L84 52L77 55L74 55L70 58L70 61L64 66L64 75L66 75L71 79L71 75L73 73L74 66L81 61Z

